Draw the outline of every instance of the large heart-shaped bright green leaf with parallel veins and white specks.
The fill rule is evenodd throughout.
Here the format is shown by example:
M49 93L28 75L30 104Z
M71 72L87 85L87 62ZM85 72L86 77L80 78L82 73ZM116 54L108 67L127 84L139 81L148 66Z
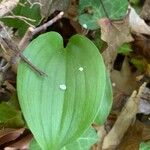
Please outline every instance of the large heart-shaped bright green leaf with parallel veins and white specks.
M24 55L47 76L20 62L17 90L23 115L43 150L60 150L79 138L99 111L106 85L102 57L81 35L64 48L56 32L33 40Z

